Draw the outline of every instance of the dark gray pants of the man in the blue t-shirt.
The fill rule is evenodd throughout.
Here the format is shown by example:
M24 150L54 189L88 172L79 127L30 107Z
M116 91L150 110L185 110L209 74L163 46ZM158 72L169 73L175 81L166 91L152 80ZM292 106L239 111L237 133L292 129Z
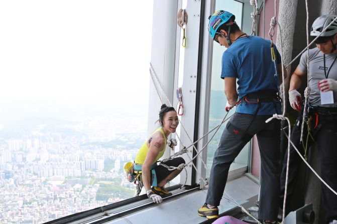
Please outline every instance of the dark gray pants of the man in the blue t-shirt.
M266 123L270 117L271 115L255 116L243 113L233 115L214 153L207 204L219 205L230 165L250 138L256 134L261 156L259 219L276 220L280 195L280 120L274 119Z

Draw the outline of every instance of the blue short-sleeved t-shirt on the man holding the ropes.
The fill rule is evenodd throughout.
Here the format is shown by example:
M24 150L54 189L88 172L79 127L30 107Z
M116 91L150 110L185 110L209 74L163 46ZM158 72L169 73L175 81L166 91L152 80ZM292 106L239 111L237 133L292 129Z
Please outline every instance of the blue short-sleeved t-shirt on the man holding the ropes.
M274 45L276 66L281 56ZM221 78L237 78L239 99L261 90L278 92L279 79L275 76L275 66L271 58L270 41L256 36L239 38L222 55ZM255 114L258 104L242 100L236 112ZM257 115L281 113L280 103L261 103Z

